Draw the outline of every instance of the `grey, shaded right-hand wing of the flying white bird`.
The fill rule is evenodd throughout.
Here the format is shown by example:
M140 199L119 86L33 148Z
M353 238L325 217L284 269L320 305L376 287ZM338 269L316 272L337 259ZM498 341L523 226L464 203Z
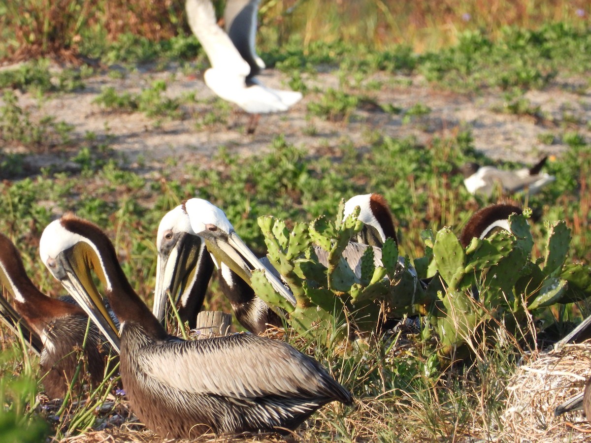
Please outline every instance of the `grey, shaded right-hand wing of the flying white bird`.
M228 37L241 57L251 66L248 77L254 77L261 69L265 69L265 62L255 50L258 6L259 0L228 0L223 13Z

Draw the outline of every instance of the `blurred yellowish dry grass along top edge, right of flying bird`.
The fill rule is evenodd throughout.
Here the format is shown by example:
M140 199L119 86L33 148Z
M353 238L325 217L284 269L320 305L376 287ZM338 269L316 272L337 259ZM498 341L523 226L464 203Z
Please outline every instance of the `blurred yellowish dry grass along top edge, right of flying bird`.
M507 25L537 28L550 21L584 25L591 13L584 0L284 0L266 4L272 13L265 15L264 22L280 27L283 36L300 34L305 47L316 41L345 40L376 48L405 44L418 52L456 44L457 36L466 30L483 30L494 38Z

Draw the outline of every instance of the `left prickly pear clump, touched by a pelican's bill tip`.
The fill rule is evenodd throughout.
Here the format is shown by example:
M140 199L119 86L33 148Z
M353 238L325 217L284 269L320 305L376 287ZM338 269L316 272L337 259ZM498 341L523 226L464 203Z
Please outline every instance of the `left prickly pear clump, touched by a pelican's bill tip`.
M382 249L355 246L362 253L361 264L358 271L349 266L349 241L363 224L359 209L343 219L344 208L342 201L335 222L320 217L309 225L296 223L291 232L273 217L258 220L268 258L291 288L296 306L276 294L261 272L252 277L256 294L271 307L285 310L298 333L323 343L345 338L349 328L373 331L382 305L390 311L414 311L415 299L423 297L415 293L420 287L416 275L408 271L408 263L399 261L392 240Z

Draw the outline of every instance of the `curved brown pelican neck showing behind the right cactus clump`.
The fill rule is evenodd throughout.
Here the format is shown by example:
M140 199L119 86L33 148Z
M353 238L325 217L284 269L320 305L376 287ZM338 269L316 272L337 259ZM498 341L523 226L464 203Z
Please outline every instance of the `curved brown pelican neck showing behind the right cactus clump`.
M460 243L467 247L474 237L484 239L500 229L511 232L511 214L521 215L523 211L511 204L491 204L475 212L460 234Z

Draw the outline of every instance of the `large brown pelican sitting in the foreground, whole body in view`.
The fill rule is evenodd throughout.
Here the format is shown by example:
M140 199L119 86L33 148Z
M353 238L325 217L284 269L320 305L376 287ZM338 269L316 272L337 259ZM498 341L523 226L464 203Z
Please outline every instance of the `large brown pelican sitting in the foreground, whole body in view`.
M348 390L316 360L282 341L252 334L196 341L168 335L94 224L66 215L49 224L41 238L44 263L81 303L102 302L89 275L95 269L121 320L126 395L138 418L162 437L293 429L326 403L352 402ZM218 246L228 242L235 239L217 236Z

